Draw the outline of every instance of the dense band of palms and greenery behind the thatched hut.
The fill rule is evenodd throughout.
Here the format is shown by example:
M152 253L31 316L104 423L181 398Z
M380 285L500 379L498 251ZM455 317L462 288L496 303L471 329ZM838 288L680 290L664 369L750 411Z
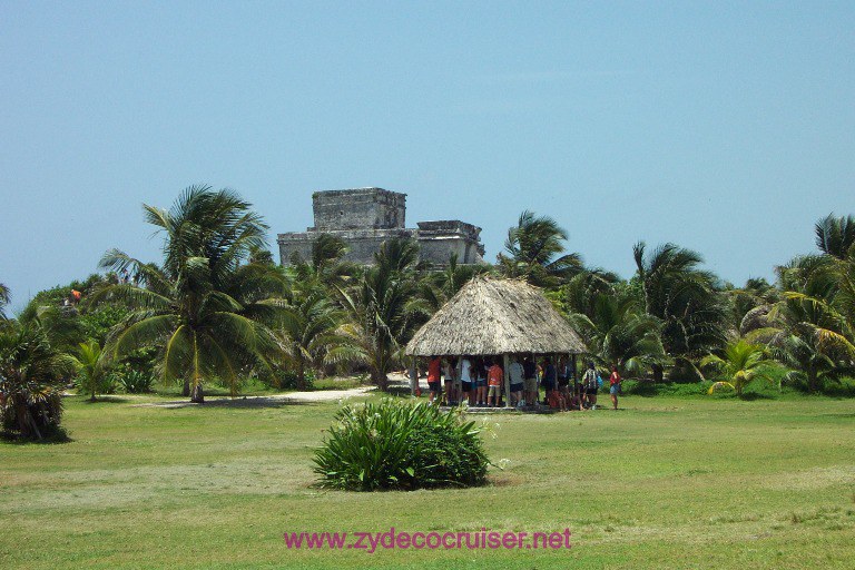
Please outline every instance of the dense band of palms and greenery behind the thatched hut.
M57 354L75 356L70 380L90 397L147 391L154 377L183 383L196 402L205 382L236 393L250 376L307 389L358 373L387 390L419 326L487 272L541 286L582 336L583 360L615 364L622 376L717 381L743 394L773 363L785 371L778 385L808 392L855 375L852 216L818 220L817 252L783 263L775 283L737 287L675 244L637 244L628 279L586 267L559 223L529 210L495 265L452 256L444 267L420 263L410 239L387 240L372 265L357 266L333 235L281 267L265 248L267 225L227 189L194 186L170 209L145 206L145 215L164 237L156 263L110 250L106 275L43 291L17 320L0 284L0 326L38 330Z

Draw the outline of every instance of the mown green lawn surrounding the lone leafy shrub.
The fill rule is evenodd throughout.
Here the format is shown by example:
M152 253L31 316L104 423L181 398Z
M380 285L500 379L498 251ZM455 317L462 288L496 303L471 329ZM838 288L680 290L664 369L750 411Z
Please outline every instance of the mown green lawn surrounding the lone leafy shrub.
M150 396L156 397L156 396ZM855 400L641 397L489 416L481 489L325 492L337 404L69 399L73 439L0 444L0 568L853 568ZM498 424L494 425L494 424ZM572 531L569 550L288 550L285 532Z

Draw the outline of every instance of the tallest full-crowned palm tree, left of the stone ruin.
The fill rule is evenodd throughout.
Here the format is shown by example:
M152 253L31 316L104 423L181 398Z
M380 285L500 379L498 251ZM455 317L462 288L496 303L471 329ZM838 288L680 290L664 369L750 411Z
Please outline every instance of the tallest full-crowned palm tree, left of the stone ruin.
M235 394L238 374L276 346L265 326L269 301L284 277L269 265L245 265L264 246L262 218L228 189L191 186L169 210L145 205L146 219L165 234L163 266L117 249L101 266L131 269L132 284L106 287L98 296L137 307L109 342L111 356L158 346L165 381L183 379L193 402L204 402L203 382L220 379Z

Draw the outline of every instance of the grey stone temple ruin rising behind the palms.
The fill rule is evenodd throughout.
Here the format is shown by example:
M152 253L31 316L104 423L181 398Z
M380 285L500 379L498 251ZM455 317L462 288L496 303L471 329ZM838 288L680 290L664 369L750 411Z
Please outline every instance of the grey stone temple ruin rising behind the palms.
M374 254L386 239L411 237L419 242L421 261L434 265L449 264L452 254L458 263L475 264L483 259L481 228L456 219L419 222L417 228L404 226L406 194L383 188L316 191L312 195L315 225L305 232L279 234L279 259L291 265L294 253L312 258L312 243L321 234L341 237L347 244L346 259L360 264L374 263Z

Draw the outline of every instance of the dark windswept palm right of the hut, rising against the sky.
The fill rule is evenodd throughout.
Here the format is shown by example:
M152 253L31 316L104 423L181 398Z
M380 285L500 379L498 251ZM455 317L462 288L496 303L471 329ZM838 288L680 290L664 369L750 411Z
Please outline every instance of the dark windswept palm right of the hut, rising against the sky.
M725 344L727 307L717 278L698 268L699 254L674 244L653 252L643 242L632 248L645 312L662 322L667 353L694 367L691 360ZM661 368L653 367L661 380Z

